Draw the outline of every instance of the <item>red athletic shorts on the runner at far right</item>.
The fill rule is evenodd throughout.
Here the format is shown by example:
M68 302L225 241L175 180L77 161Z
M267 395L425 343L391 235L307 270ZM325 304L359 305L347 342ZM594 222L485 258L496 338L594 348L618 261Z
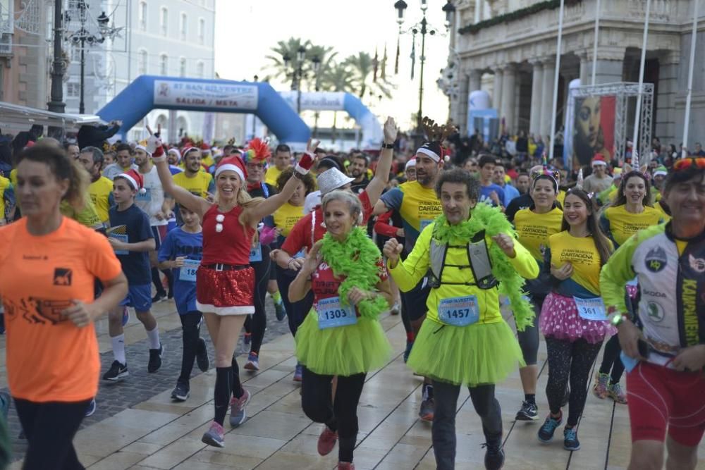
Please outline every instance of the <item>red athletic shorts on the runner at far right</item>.
M670 438L680 445L698 445L705 431L705 378L639 362L627 373L632 443Z

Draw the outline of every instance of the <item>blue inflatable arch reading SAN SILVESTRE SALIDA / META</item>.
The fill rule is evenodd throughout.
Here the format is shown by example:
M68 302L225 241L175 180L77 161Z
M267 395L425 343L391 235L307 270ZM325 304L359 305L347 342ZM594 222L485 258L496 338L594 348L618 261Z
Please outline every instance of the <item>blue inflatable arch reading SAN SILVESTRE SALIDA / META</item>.
M120 132L126 135L153 109L252 113L295 149L305 149L311 136L306 123L265 82L140 75L97 114L106 121L122 120Z

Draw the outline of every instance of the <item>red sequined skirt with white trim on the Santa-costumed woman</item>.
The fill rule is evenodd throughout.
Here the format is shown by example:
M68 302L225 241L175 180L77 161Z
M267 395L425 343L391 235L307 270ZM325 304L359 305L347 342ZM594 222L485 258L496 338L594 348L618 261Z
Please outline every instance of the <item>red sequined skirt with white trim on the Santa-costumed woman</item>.
M254 290L255 270L251 267L216 271L199 266L196 271L196 308L204 313L254 314Z

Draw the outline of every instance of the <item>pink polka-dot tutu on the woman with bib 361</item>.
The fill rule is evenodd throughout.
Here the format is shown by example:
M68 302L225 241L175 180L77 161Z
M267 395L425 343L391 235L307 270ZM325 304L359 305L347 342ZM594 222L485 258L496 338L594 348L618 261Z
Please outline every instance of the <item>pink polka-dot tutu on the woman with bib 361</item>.
M575 300L551 292L541 308L539 328L544 336L559 340L575 341L583 338L591 344L601 342L606 336L617 333L606 321L583 319L577 314Z

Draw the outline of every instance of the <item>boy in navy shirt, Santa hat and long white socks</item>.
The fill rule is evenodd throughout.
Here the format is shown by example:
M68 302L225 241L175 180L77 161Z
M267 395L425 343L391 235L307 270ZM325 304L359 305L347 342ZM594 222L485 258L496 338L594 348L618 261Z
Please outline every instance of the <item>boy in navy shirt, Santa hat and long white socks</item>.
M164 347L159 341L157 319L152 315L152 268L149 266L149 251L154 249L154 234L149 217L135 206L135 196L142 190L144 180L135 170L117 175L113 180L113 197L116 206L108 211L110 218L109 242L115 250L123 272L128 278L128 296L108 314L108 331L113 345L115 360L103 380L118 381L128 376L125 359L125 335L123 333L123 306L133 307L137 319L142 322L149 338L149 364L147 371L156 372L161 367Z

